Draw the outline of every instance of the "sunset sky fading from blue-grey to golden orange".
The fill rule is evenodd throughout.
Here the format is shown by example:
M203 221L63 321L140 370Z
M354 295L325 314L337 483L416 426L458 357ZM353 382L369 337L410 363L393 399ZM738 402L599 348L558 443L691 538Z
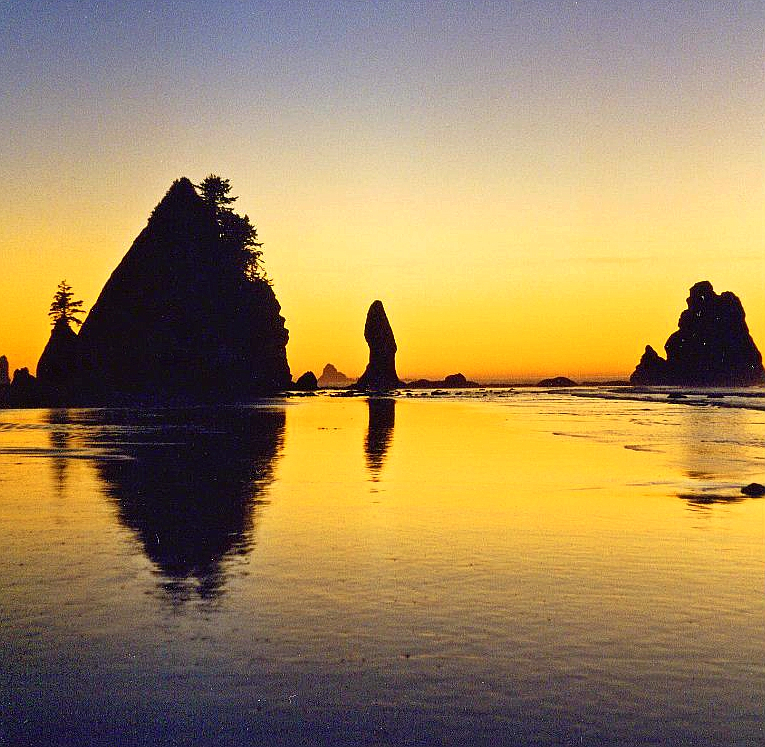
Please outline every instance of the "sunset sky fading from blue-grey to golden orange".
M765 5L2 2L0 353L173 179L229 178L296 378L628 375L688 288L765 347Z

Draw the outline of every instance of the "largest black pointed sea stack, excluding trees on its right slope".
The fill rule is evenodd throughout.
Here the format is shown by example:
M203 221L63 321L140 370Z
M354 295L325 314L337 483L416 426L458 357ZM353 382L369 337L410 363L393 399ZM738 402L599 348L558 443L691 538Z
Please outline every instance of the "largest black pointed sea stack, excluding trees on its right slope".
M82 401L236 401L290 385L270 284L229 257L182 178L107 281L78 335Z

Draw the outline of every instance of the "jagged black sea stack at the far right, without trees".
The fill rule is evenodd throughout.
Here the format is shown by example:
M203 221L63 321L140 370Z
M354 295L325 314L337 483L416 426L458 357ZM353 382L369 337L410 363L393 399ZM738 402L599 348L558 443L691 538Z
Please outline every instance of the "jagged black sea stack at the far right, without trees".
M678 330L662 358L649 345L630 377L632 384L750 386L765 382L762 356L746 326L741 301L718 295L708 281L696 283Z

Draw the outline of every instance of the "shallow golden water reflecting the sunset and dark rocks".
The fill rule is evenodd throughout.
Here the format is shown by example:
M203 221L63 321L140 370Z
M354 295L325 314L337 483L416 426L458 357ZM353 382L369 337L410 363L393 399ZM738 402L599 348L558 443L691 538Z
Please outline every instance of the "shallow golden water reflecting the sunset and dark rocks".
M764 400L572 392L0 411L0 744L765 743Z

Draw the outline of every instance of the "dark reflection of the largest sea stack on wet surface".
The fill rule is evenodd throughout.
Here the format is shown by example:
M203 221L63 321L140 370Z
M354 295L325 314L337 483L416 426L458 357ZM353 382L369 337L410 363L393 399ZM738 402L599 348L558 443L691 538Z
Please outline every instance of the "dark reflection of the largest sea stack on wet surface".
M96 461L120 521L140 539L176 601L222 592L224 561L246 554L259 495L281 449L284 411L90 411ZM96 425L95 423L91 423ZM89 431L93 432L92 429Z

